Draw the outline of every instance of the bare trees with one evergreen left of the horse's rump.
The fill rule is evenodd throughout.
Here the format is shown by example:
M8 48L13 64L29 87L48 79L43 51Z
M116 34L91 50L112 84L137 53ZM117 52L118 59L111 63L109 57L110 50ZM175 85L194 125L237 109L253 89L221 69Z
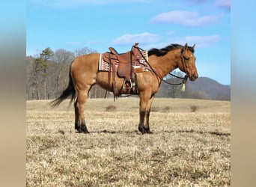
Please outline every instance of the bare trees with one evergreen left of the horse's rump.
M26 58L26 99L55 99L67 87L71 61L79 55L96 52L88 47L74 52L50 47Z

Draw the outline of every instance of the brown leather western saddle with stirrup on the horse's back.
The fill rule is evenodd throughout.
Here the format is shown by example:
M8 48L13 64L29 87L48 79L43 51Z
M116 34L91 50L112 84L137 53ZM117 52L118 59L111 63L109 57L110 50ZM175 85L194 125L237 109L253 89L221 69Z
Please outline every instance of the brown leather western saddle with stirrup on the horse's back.
M119 77L124 78L124 89L130 89L130 93L137 94L135 72L142 71L138 70L139 68L134 68L134 66L140 64L140 60L144 58L138 49L138 43L135 43L129 52L118 53L113 47L109 47L109 51L110 52L103 53L102 57L103 61L109 63L108 82L110 82L110 73L112 71L114 96L120 95L116 88L115 73L117 73Z

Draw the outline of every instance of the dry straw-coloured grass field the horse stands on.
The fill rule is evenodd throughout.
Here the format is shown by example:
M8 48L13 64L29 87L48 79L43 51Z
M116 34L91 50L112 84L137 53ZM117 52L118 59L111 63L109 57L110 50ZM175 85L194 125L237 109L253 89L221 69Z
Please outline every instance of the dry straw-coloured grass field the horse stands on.
M68 100L27 101L27 186L231 185L231 102L155 99L150 135L138 102L88 99L79 134Z

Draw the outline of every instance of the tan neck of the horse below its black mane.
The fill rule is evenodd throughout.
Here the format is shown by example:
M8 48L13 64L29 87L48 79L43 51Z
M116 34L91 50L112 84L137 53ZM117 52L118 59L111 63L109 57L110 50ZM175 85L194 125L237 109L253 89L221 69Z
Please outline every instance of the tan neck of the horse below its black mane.
M168 54L162 57L156 57L155 55L149 57L150 65L159 73L162 78L175 70L178 67L178 61L180 60L180 50L174 50L168 52Z

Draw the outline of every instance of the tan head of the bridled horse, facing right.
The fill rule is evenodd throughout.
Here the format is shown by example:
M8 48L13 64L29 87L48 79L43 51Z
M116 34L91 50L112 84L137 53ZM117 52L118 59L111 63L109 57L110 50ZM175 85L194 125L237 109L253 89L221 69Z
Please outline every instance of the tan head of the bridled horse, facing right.
M178 64L180 70L182 70L189 77L191 81L195 81L198 78L198 71L195 66L194 46L188 46L187 43L181 49L181 61Z

